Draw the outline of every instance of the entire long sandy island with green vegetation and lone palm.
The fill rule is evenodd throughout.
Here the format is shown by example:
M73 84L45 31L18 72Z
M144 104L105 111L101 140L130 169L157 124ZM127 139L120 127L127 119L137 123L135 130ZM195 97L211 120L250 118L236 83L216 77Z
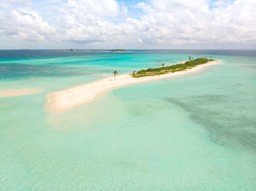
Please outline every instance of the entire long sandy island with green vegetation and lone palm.
M220 61L218 60L197 58L172 66L164 67L164 65L162 65L161 68L148 69L149 71L134 71L132 74L116 75L117 72L113 72L112 77L106 77L84 85L48 93L48 95L46 95L45 111L53 113L67 112L69 109L73 109L77 106L89 104L91 101L98 98L99 95L102 95L102 93L118 87L191 74L207 66L219 63Z

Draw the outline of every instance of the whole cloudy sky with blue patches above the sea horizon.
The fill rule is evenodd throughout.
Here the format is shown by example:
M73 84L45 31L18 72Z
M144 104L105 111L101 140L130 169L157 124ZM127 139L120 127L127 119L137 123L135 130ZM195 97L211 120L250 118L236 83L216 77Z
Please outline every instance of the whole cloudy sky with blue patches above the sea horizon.
M0 49L255 49L256 0L1 0Z

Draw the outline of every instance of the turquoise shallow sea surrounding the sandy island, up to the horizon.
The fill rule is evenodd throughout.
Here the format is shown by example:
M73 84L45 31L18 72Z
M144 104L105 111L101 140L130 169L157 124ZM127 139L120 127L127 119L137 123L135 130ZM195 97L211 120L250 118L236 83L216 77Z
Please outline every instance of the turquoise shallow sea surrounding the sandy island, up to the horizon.
M189 55L222 64L44 111L47 93ZM255 50L0 50L0 91L20 87L42 93L0 98L0 190L256 190Z

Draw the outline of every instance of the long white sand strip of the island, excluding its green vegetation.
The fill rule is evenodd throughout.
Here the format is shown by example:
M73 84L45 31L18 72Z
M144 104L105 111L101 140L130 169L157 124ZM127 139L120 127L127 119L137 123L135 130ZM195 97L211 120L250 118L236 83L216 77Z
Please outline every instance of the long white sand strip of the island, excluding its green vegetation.
M75 87L69 87L64 90L59 90L46 95L45 111L53 113L63 113L70 109L83 104L89 104L99 95L105 93L107 90L113 90L118 87L124 87L127 85L134 85L143 82L151 82L158 79L165 79L169 77L177 77L184 74L191 74L207 66L220 64L220 61L211 61L205 64L197 65L192 69L186 71L177 71L170 74L162 74L150 77L131 77L129 74L121 74L116 76L116 80L113 77L106 77L94 82L89 82L84 85L78 85Z

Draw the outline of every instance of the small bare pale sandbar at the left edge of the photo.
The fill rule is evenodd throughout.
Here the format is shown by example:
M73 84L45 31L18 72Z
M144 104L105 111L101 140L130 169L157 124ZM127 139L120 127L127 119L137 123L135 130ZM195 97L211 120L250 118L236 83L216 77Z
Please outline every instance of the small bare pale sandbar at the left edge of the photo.
M19 88L19 89L10 89L10 90L0 90L0 98L7 97L16 97L22 95L30 95L40 93L42 90L31 89L31 88Z

